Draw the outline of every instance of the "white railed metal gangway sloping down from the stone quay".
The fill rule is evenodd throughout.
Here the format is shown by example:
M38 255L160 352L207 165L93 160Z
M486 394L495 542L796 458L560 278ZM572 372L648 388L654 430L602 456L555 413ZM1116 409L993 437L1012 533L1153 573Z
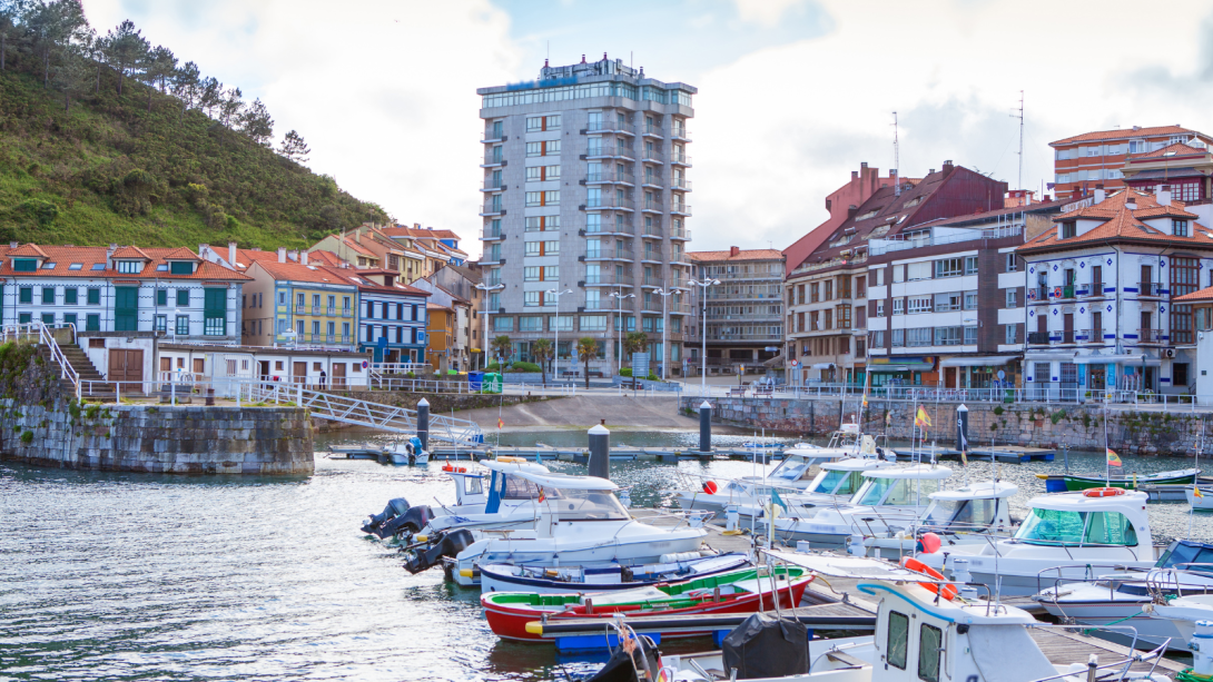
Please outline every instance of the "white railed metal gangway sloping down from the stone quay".
M255 382L249 385L249 396L255 402L294 403L307 408L312 416L342 424L410 436L417 432L416 410L335 396L304 388L301 383ZM429 439L473 448L484 444L484 432L474 421L431 414Z

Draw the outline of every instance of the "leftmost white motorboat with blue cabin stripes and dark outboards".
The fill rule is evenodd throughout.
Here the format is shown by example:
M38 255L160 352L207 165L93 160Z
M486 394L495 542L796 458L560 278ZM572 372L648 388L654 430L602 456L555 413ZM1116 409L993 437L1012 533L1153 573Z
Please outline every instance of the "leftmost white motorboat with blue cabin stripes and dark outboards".
M403 498L397 498L391 500L381 513L371 515L370 519L363 524L363 533L381 539L400 536L408 541L422 529L427 532L449 530L459 524L479 529L480 527L492 527L494 523L518 521L513 518L516 516L534 524L536 518L534 499L539 496L539 488L517 479L514 474L523 471L547 472L548 468L522 457L485 460L480 462L480 466L488 470L488 488L483 470L474 465L463 466L459 462L446 462L442 471L455 484L455 504L438 502L434 506L410 506Z

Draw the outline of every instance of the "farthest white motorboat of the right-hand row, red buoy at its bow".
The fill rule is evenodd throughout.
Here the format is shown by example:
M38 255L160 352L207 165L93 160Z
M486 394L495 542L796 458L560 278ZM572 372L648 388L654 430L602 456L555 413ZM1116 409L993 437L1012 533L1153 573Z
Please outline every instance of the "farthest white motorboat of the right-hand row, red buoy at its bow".
M788 448L784 450L784 460L767 476L746 476L729 481L719 488L714 481L706 481L695 489L674 490L673 498L684 510L702 510L724 512L730 505L764 505L770 498L771 488L786 493L798 493L808 489L815 481L825 462L878 456L876 441L864 436L858 426L836 431L825 448ZM780 493L784 494L784 493Z

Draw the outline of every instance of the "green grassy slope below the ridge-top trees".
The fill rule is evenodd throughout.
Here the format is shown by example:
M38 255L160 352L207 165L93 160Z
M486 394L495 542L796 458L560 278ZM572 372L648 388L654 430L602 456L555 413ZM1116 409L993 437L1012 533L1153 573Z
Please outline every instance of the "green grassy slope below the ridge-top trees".
M383 211L113 74L64 112L24 73L0 73L0 243L298 248Z

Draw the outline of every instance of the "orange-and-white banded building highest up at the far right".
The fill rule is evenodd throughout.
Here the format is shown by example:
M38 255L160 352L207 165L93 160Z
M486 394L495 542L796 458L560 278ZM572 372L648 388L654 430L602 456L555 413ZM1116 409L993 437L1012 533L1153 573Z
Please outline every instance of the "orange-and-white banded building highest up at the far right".
M1089 197L1097 184L1103 184L1106 191L1120 189L1124 187L1124 161L1129 157L1180 143L1207 148L1213 138L1178 125L1135 125L1049 142L1053 147L1057 198L1075 200Z

